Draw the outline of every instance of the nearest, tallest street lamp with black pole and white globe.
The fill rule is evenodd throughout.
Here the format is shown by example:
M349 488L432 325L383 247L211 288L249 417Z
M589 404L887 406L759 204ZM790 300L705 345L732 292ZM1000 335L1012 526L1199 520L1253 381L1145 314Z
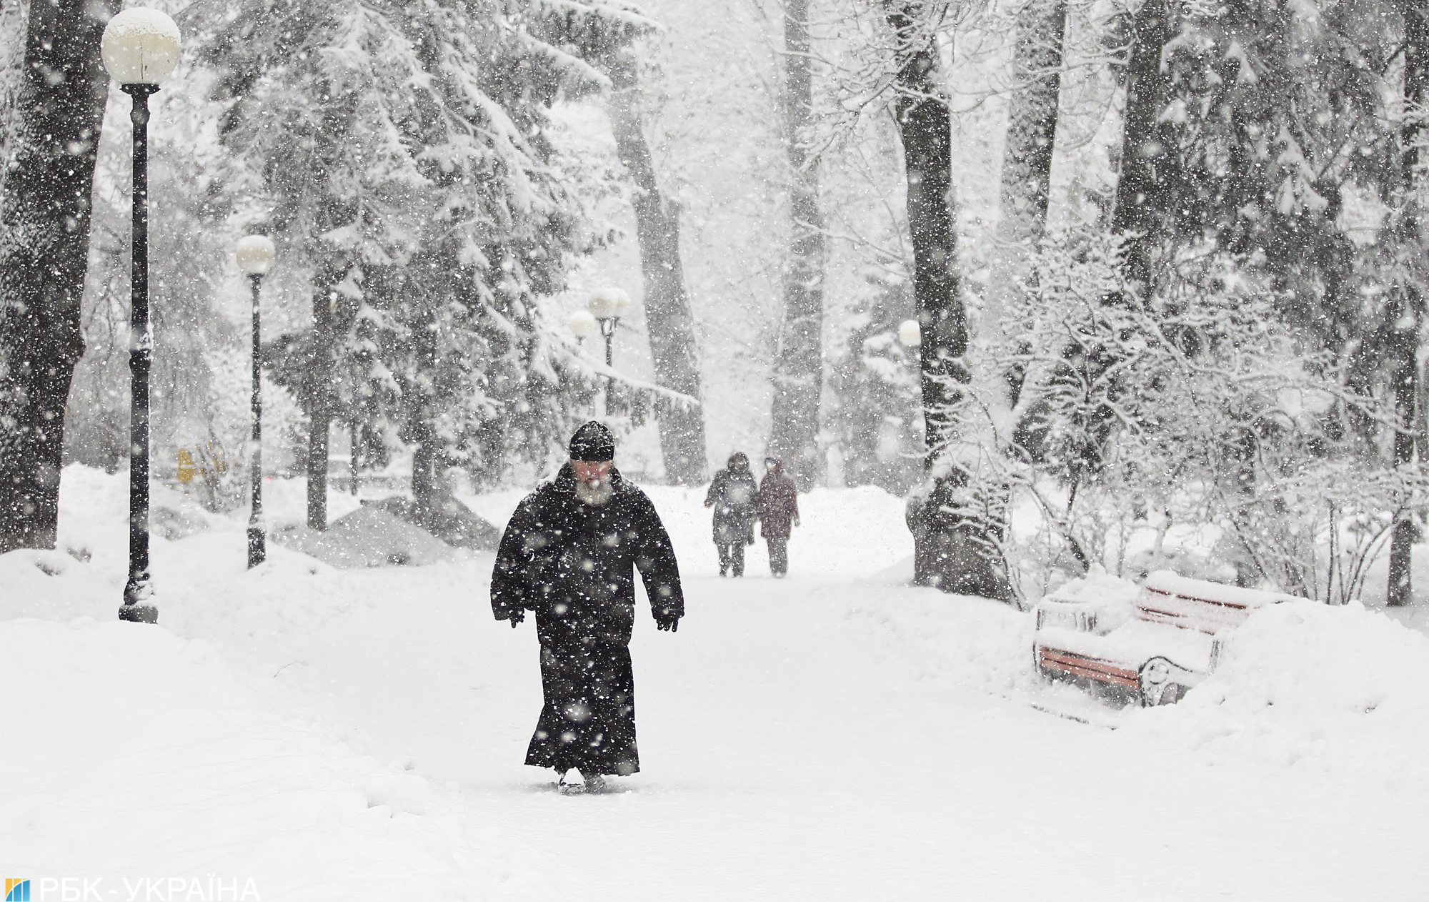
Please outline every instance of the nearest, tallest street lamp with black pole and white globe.
M120 620L156 623L149 575L149 96L179 64L179 26L159 10L127 9L109 20L100 40L104 69L134 99L133 263L129 324L129 580Z

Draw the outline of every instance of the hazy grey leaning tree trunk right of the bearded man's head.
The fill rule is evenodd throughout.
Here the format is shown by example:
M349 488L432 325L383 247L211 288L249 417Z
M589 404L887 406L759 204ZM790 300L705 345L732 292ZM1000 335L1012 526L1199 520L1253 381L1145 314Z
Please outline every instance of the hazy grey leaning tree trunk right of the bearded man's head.
M633 60L613 69L610 126L616 152L634 182L636 237L640 243L640 272L644 277L644 324L654 359L654 382L690 397L700 397L700 366L696 355L694 316L684 292L680 264L680 212L660 194L654 162L640 127L639 84ZM656 400L660 453L670 485L704 482L704 409L664 399Z

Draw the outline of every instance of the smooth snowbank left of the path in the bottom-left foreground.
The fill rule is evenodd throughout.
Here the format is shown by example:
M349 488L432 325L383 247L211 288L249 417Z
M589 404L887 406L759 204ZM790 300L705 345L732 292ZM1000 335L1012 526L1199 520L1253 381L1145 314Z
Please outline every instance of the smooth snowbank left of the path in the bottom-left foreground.
M264 899L517 889L512 862L474 859L480 831L444 793L282 713L204 642L20 619L0 623L0 660L14 873L83 873L120 895L121 878L153 875L252 879Z

